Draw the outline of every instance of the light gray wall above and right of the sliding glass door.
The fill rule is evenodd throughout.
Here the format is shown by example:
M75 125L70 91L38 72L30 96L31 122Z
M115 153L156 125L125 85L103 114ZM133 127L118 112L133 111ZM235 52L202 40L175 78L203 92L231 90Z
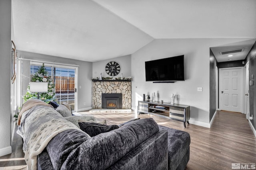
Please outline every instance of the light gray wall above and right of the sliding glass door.
M78 67L78 111L91 109L92 107L92 63L80 60L55 57L26 51L18 51L18 57L22 59L31 59L37 61L46 61L52 63L74 64ZM81 88L79 88L81 86ZM86 105L84 105L86 102Z

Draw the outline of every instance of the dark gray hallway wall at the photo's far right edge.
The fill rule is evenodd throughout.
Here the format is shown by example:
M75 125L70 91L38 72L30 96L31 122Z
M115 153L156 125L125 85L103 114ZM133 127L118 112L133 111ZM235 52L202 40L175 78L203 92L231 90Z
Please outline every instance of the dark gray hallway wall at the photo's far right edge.
M250 80L252 80L251 76L253 74L253 85L250 86L250 116L253 115L253 120L249 120L254 129L256 129L256 42L252 46L252 49L248 53L246 57L246 62L249 61L249 72L250 72ZM245 63L246 63L245 62Z

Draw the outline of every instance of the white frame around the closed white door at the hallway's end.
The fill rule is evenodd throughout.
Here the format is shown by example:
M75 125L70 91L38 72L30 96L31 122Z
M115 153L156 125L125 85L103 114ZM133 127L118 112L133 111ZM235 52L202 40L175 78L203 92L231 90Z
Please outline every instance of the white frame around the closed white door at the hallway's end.
M244 113L244 67L240 66L240 67L228 67L228 68L219 68L219 85L221 87L222 84L222 80L221 80L221 74L220 71L221 70L231 70L231 69L241 69L241 98L242 98L242 104L241 104L241 113ZM221 88L219 88L219 109L221 108L221 104L222 104L222 95L221 95Z

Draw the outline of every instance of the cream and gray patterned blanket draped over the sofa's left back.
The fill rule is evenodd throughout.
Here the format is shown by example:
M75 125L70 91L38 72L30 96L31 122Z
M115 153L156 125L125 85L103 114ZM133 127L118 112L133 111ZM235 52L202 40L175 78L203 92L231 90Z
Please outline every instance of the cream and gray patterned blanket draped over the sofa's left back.
M68 129L80 130L51 107L37 105L22 113L17 133L24 140L23 151L28 170L37 169L37 155L53 137Z

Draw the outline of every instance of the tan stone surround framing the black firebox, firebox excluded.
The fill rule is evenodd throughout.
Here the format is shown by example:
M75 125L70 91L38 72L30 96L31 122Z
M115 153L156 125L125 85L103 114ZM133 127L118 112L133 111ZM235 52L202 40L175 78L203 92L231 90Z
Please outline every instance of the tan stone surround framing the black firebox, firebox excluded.
M102 108L102 93L122 94L122 109L132 108L132 82L130 80L93 80L92 108Z

